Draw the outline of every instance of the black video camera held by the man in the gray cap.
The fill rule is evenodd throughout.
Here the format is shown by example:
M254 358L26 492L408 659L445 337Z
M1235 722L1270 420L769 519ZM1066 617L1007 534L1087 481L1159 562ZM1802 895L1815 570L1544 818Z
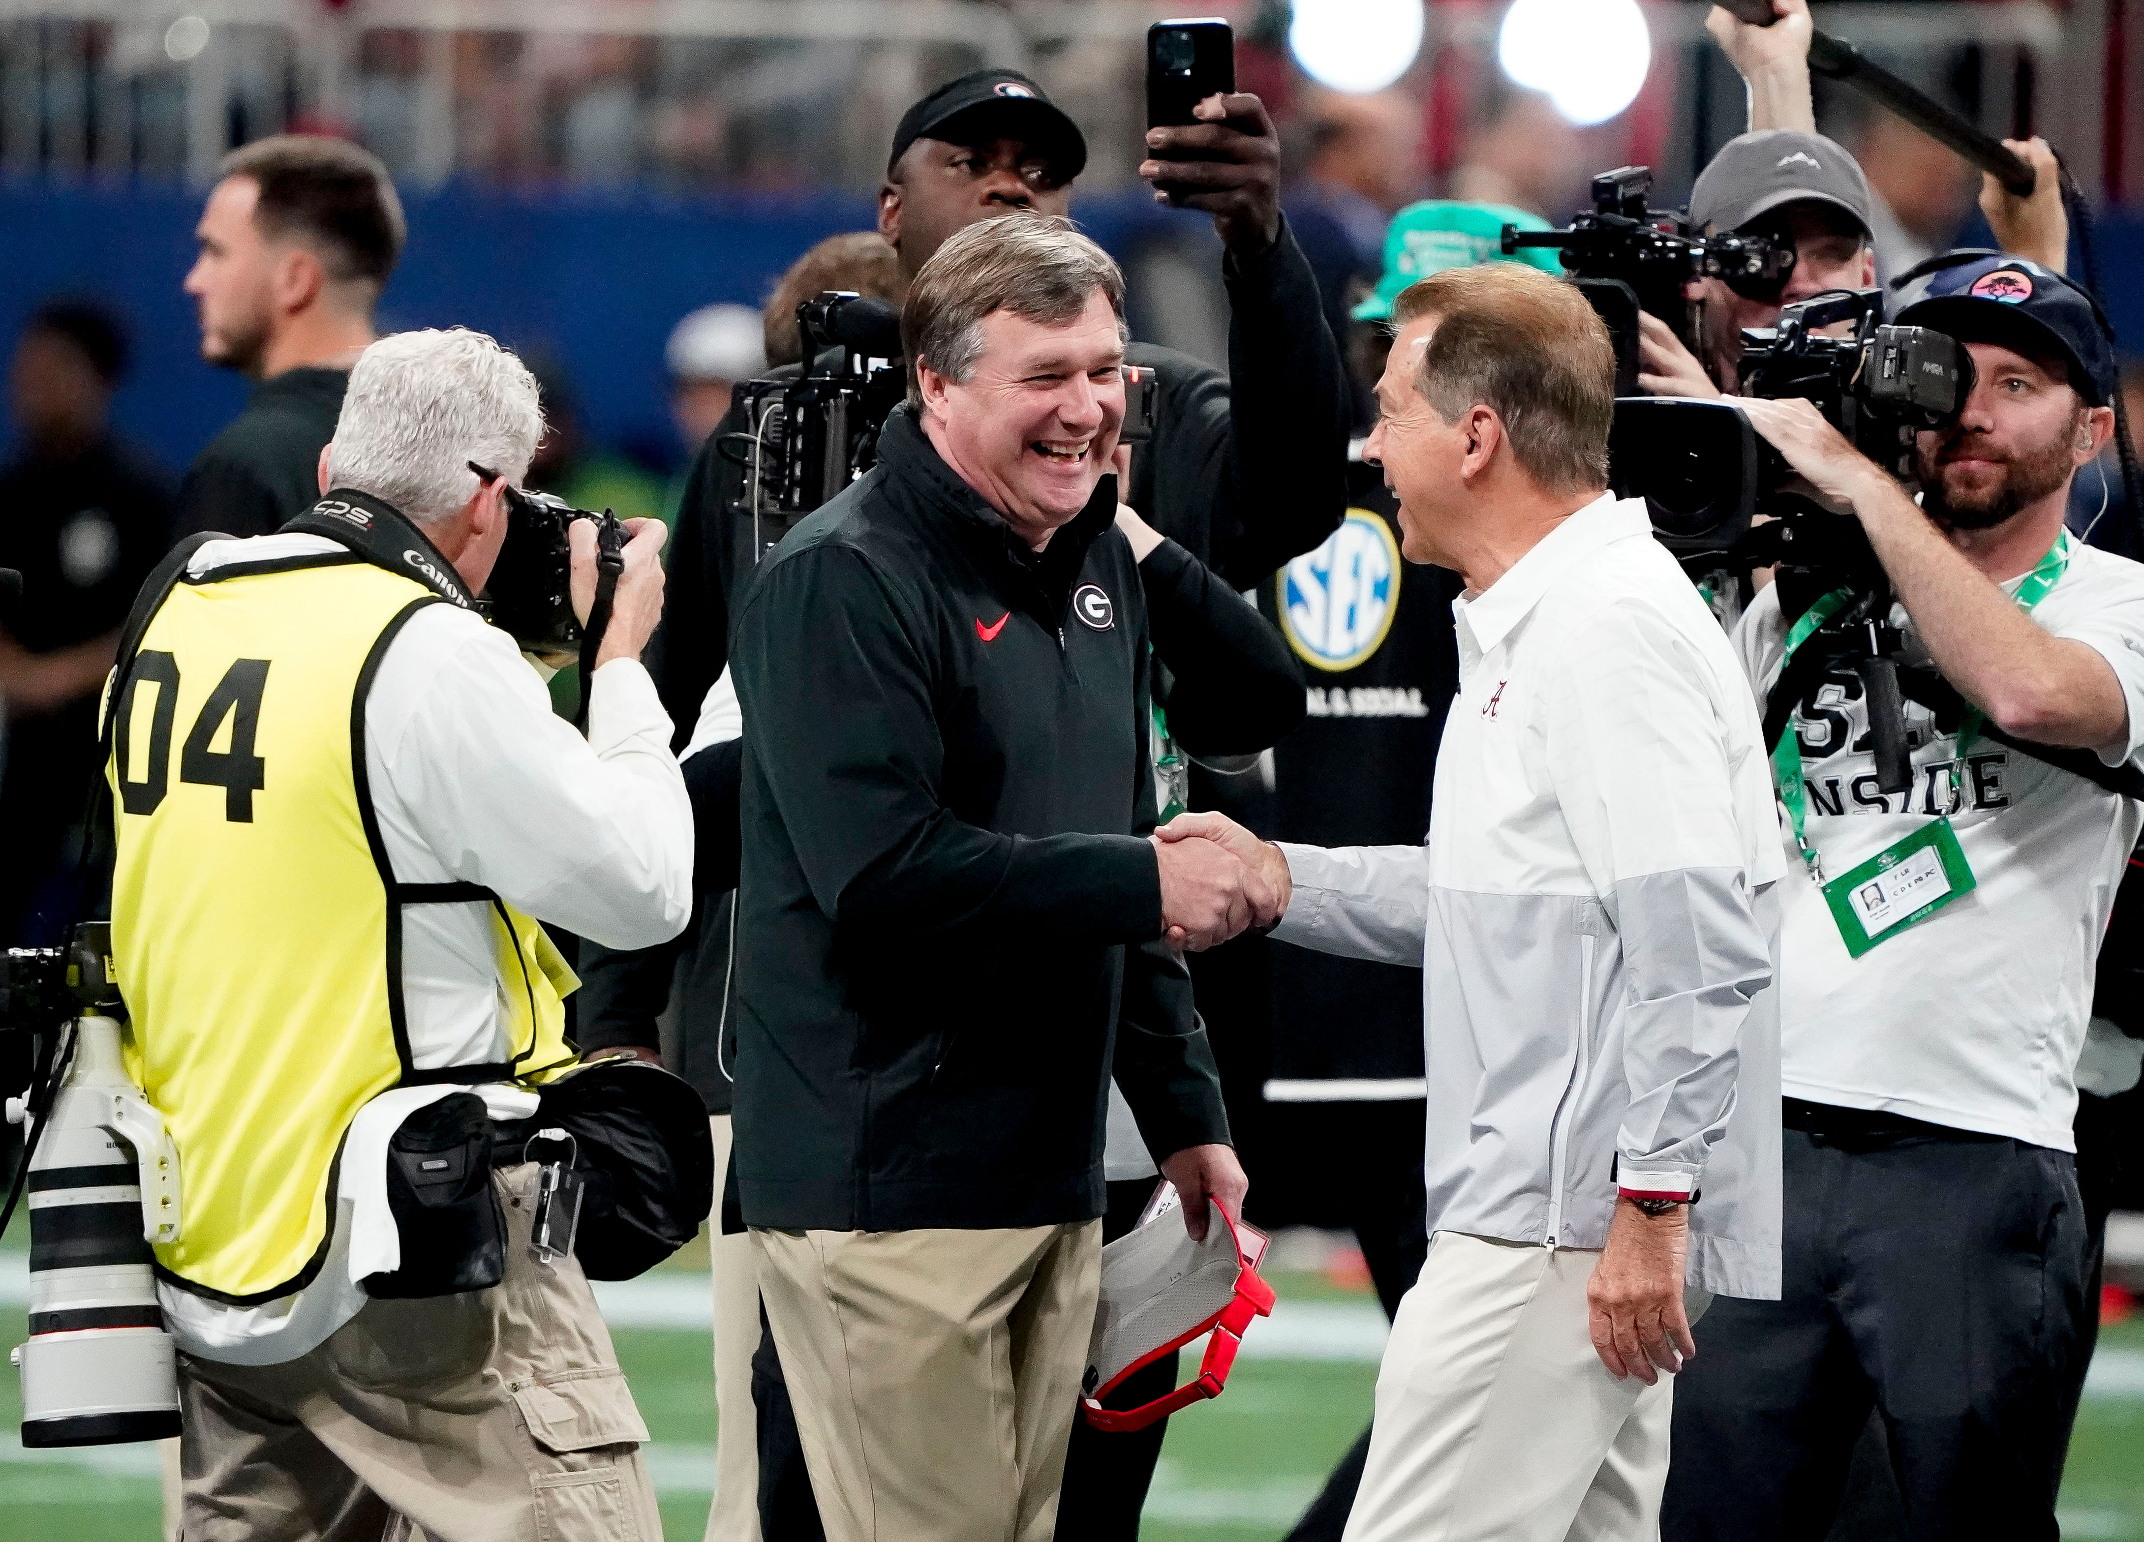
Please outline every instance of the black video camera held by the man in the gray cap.
M1503 227L1503 249L1552 247L1565 272L1608 324L1617 395L1638 390L1638 313L1666 322L1683 347L1700 352L1692 279L1719 279L1737 294L1775 298L1795 270L1795 249L1767 236L1700 236L1687 214L1647 208L1653 167L1623 165L1593 178L1593 208L1567 229Z

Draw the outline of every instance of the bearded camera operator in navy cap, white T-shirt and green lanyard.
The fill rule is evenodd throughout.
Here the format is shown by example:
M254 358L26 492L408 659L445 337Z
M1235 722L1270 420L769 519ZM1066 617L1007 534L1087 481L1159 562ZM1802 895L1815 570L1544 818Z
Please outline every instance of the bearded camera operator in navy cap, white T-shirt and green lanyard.
M1921 506L1810 403L1741 403L1889 577L1912 785L1872 774L1857 671L1788 686L1784 1291L1698 1330L1670 1542L1825 1536L1872 1407L1910 1538L2056 1536L2086 1313L2073 1072L2144 826L2144 568L2063 528L2114 416L2093 302L1981 257L1900 322L1957 337L1977 373L1957 422L1919 435ZM1812 624L1780 585L1756 598L1760 693ZM1893 862L1919 909L1882 909Z

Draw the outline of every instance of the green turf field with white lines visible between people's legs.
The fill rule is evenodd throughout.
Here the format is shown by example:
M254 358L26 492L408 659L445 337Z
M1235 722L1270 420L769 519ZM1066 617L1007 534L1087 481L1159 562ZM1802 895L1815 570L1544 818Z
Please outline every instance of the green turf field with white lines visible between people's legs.
M1280 1280L1291 1298L1334 1291ZM1256 1332L1256 1330L1252 1330ZM0 1308L0 1343L24 1334ZM2144 1355L2144 1319L2112 1328L2110 1349ZM708 1336L632 1330L617 1353L654 1433L671 1542L697 1542L708 1514L714 1413ZM1370 1409L1374 1368L1246 1360L1218 1403L1171 1422L1156 1473L1147 1542L1271 1542L1316 1493ZM13 1441L17 1383L0 1373L0 1538L6 1542L154 1542L157 1476L146 1448L103 1448L99 1465L26 1461ZM2086 1400L2063 1488L2063 1533L2144 1542L2144 1390Z

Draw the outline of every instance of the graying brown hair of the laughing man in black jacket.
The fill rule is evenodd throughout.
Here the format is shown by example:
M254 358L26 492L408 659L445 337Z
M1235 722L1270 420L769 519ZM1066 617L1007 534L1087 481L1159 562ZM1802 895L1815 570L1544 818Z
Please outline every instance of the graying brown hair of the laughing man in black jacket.
M900 307L909 401L922 405L915 365L965 384L982 358L982 317L993 311L1068 326L1100 290L1123 326L1123 272L1061 214L1003 214L967 225L930 253Z

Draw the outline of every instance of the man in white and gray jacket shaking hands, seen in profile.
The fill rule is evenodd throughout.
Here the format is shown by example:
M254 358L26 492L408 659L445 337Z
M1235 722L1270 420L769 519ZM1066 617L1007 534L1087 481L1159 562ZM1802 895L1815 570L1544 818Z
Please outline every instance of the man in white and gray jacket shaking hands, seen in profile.
M1406 560L1466 579L1428 841L1162 836L1244 858L1278 941L1421 967L1430 1250L1346 1542L1651 1542L1692 1319L1777 1291L1758 716L1606 491L1614 352L1578 290L1449 268L1391 320L1364 457Z

